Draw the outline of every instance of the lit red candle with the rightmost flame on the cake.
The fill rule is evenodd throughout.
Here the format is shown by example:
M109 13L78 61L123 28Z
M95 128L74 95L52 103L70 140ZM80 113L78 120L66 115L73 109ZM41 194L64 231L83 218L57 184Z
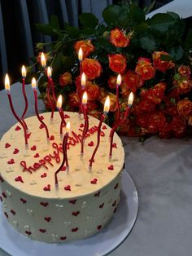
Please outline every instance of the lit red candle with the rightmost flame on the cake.
M124 121L127 120L132 104L133 104L133 92L131 92L130 95L129 95L128 105L127 105L124 117L122 119L120 119L119 121L117 121L116 125L113 126L112 129L111 129L111 132L110 132L110 151L109 151L109 157L112 157L112 144L113 144L114 133L115 133L117 127L122 125L122 124L124 124Z

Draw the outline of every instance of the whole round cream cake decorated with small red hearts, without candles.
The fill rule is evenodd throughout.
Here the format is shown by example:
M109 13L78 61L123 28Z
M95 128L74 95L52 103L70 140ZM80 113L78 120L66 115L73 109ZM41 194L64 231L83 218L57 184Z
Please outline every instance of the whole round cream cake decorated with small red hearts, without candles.
M24 146L24 132L17 123L0 142L0 201L5 218L12 227L33 240L49 243L85 239L103 229L116 212L120 201L120 176L124 166L124 148L118 135L114 135L113 157L109 159L109 133L103 123L101 141L97 143L98 120L89 117L89 130L85 139L85 152L81 156L81 135L84 119L77 113L65 113L70 121L68 136L69 171L55 171L63 160L59 134L60 117L55 113L41 114L45 128L36 116L25 119L28 125L28 149Z

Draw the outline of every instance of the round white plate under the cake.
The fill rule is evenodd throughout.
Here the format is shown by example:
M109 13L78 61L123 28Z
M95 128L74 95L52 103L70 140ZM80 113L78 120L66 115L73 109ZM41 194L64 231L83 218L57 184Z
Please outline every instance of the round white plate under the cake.
M16 232L0 210L0 248L13 256L103 256L116 249L129 235L137 218L138 196L135 184L124 170L120 205L103 231L86 240L66 244L33 241Z

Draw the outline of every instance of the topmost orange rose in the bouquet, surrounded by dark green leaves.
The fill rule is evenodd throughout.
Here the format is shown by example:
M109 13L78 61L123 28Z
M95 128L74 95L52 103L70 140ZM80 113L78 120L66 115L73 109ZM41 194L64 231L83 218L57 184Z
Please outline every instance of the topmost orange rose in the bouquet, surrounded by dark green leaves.
M113 29L110 34L110 42L117 47L126 47L129 46L130 40L120 29Z

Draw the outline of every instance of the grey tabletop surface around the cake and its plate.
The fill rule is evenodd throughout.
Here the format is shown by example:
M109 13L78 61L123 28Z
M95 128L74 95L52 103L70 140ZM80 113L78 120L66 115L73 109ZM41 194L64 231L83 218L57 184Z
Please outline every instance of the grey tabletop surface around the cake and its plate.
M27 116L31 116L34 114L33 90L29 85L26 89ZM11 95L15 110L21 114L24 101L20 83L11 86ZM1 137L15 124L15 119L5 90L0 93L0 102ZM43 109L39 101L40 112ZM123 137L122 140L126 169L137 187L139 212L129 237L110 255L191 255L192 140L151 137L144 144L135 138ZM0 256L6 255L0 249Z

